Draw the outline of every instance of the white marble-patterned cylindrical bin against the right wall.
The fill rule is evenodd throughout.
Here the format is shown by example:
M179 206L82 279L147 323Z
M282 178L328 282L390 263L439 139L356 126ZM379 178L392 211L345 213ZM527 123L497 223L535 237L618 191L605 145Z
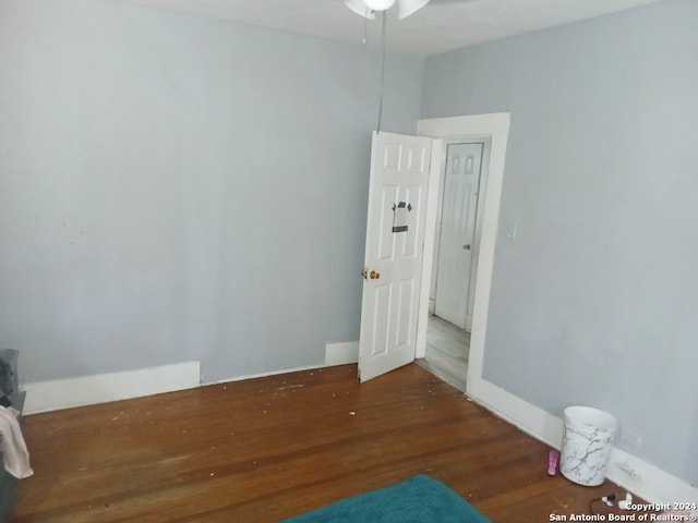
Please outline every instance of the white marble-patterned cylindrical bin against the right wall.
M617 419L607 412L590 406L565 409L559 472L579 485L601 485L617 427Z

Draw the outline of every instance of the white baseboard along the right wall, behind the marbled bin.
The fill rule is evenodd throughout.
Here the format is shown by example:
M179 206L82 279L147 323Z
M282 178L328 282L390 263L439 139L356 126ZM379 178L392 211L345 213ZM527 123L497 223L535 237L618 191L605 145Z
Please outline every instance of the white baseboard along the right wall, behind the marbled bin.
M562 418L481 378L468 384L468 396L504 421L559 450ZM542 460L541 466L546 467L546 457ZM698 503L698 488L617 447L611 453L606 477L650 503Z

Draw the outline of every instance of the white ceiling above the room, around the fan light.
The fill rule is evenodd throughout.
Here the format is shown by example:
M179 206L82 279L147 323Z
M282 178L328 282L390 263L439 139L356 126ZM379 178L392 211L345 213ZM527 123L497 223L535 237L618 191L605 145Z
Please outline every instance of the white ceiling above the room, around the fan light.
M378 48L378 19L364 19L342 0L112 0L197 16ZM431 0L408 19L388 11L386 47L430 56L529 31L622 11L660 0Z

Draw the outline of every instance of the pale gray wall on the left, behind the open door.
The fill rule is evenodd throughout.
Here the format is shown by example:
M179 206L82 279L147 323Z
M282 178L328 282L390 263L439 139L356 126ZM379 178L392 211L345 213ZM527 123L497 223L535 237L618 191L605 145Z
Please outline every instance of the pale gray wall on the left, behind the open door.
M197 360L212 381L357 340L380 64L131 5L0 0L0 345L23 379ZM422 65L388 57L385 130L416 131Z

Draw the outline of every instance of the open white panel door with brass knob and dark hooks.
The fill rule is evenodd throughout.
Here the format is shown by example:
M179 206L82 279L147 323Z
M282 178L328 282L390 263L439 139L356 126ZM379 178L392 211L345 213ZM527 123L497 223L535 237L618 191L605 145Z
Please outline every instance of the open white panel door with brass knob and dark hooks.
M373 133L359 380L414 360L432 139Z

